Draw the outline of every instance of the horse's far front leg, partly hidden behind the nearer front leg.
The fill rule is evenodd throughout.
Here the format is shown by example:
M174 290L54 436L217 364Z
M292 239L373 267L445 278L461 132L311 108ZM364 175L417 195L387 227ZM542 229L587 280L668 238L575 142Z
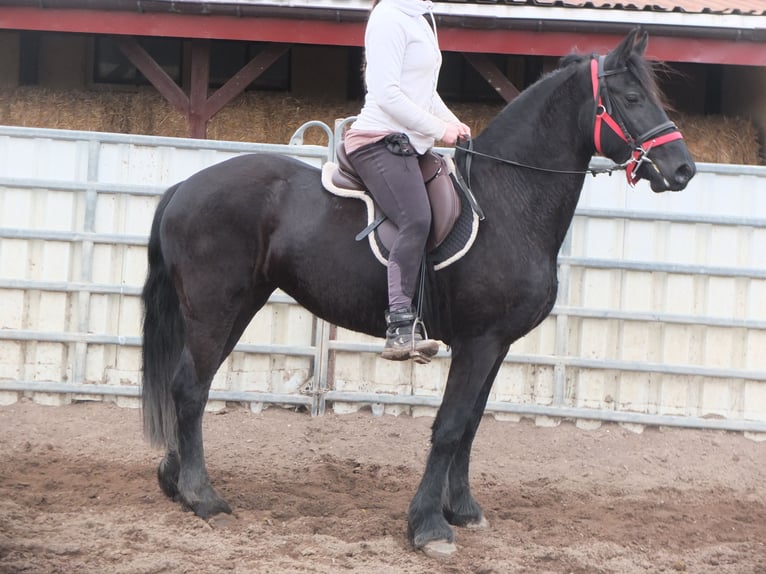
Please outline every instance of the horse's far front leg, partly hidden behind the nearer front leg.
M471 460L471 447L476 437L476 431L479 428L484 409L487 406L489 392L492 390L492 384L495 382L497 372L503 364L503 359L508 352L506 347L500 357L495 362L495 366L490 371L484 385L476 400L471 413L471 420L460 439L460 444L452 457L450 464L446 491L444 493L444 516L453 526L464 526L467 528L485 528L489 524L484 518L481 506L471 494L471 487L468 480L468 470Z

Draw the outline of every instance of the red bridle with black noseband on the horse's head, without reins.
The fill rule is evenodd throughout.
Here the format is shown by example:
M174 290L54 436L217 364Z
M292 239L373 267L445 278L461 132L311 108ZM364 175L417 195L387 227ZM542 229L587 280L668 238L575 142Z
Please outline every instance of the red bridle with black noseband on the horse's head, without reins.
M625 162L625 175L628 178L628 183L631 186L636 185L640 179L635 173L638 167L645 161L651 163L651 159L648 154L652 148L659 147L668 142L683 139L681 132L678 131L676 125L667 121L655 128L652 128L648 132L642 134L638 138L633 138L627 130L625 130L609 113L607 106L604 106L601 97L601 86L599 80L603 77L619 74L626 71L625 68L619 70L604 71L604 56L600 56L598 59L593 58L590 61L591 82L593 83L593 99L596 102L596 120L593 126L593 141L596 144L596 151L601 155L604 155L601 149L601 130L606 124L615 134L617 134L628 146L631 148L630 159ZM606 92L606 84L603 87ZM608 94L607 94L608 103ZM611 107L611 106L609 106ZM672 130L666 134L659 135L667 130Z

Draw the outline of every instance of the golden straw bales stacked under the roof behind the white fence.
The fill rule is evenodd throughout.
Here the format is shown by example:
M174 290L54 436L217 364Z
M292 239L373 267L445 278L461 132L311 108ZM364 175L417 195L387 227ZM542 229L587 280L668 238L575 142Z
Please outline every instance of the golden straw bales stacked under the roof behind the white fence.
M359 112L361 102L298 98L281 92L245 92L208 124L210 139L288 143L301 125ZM453 111L481 132L501 104L453 103ZM724 116L675 114L696 161L757 165L758 132L750 120ZM39 87L0 89L0 124L127 134L187 137L186 119L151 87L130 91L52 90ZM321 129L306 133L305 143L324 145Z

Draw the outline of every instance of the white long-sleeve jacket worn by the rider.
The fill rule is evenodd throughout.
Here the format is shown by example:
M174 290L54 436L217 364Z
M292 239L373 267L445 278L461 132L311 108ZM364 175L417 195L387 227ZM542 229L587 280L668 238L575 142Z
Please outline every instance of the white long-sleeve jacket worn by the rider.
M430 9L429 0L381 0L372 11L364 37L367 93L351 126L404 132L418 153L458 121L436 91L442 57L433 17L431 24L423 17Z

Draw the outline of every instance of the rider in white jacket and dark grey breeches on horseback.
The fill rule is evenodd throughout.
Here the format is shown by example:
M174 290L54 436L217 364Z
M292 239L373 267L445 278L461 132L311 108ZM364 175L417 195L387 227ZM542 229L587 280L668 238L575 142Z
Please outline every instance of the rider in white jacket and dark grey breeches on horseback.
M388 258L383 357L431 357L438 343L414 329L412 306L431 227L418 157L441 140L470 136L436 91L441 51L430 0L373 0L364 37L364 106L344 136L346 153L373 198L398 228Z

